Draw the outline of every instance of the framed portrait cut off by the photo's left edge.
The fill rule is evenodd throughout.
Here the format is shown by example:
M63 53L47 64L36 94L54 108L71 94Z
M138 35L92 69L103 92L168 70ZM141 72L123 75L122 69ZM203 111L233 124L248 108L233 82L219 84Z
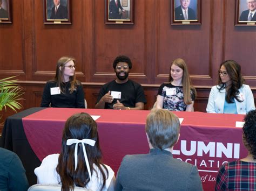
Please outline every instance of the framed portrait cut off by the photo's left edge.
M11 22L11 0L0 0L0 24Z

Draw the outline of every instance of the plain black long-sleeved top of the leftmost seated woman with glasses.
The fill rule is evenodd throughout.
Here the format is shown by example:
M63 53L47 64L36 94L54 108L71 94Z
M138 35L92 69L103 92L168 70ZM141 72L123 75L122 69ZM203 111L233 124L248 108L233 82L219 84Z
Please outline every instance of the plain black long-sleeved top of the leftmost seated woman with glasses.
M44 93L40 107L52 108L85 108L84 90L79 82L70 94L70 82L63 83L64 94L51 95L51 88L56 88L57 82L48 81L44 87ZM51 104L51 105L50 105Z

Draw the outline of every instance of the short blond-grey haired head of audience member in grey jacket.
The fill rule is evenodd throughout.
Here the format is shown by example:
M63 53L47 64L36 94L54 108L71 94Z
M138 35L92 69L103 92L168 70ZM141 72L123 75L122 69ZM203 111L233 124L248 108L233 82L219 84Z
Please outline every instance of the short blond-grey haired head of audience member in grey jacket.
M179 138L179 118L165 109L152 109L146 119L146 133L154 148L173 147Z

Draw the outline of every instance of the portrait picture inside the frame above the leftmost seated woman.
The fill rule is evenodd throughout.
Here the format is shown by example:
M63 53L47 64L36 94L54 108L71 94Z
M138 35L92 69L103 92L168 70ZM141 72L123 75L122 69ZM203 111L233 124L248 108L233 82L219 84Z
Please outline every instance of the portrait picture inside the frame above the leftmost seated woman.
M47 0L47 19L68 19L67 0Z

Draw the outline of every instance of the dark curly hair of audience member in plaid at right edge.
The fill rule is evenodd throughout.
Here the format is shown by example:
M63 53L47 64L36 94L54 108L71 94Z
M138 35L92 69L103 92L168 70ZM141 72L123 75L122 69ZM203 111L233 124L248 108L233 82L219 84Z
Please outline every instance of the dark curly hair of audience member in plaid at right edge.
M245 116L245 124L242 128L245 147L256 159L256 110L251 110Z

